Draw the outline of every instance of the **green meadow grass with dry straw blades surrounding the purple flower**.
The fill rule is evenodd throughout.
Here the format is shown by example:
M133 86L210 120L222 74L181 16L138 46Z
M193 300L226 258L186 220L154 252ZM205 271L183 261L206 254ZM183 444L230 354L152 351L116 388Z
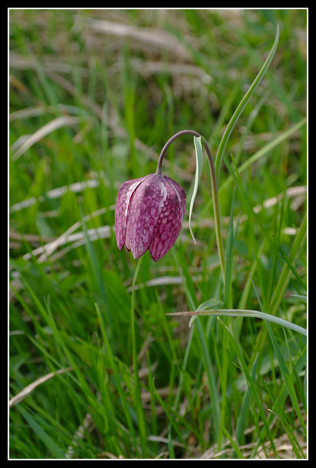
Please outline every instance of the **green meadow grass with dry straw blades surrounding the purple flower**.
M306 30L306 9L10 10L9 458L307 457ZM205 155L190 234L192 135L163 161L174 247L116 245L120 184L184 129L216 161L225 278Z

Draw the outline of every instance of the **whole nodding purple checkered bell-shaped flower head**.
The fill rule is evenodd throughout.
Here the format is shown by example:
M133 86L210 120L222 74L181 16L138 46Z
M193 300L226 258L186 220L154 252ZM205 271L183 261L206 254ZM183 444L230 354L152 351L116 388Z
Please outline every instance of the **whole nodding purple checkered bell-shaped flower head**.
M160 260L175 243L186 209L186 192L170 177L150 174L124 182L115 209L116 242L137 259L149 249Z

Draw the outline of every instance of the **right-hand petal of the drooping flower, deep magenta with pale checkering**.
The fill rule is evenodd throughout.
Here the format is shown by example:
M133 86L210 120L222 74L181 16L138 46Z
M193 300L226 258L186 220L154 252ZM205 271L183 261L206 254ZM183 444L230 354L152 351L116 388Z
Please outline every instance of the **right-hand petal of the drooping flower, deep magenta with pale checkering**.
M174 180L162 178L161 199L156 230L149 246L149 253L156 262L175 243L182 226L186 209L186 192Z

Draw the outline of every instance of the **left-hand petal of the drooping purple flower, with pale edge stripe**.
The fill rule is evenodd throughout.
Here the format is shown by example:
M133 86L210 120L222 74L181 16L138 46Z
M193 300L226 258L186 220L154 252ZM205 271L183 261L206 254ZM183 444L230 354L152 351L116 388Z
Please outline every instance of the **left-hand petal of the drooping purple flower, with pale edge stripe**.
M124 182L118 191L115 207L115 235L117 247L122 250L124 245L127 252L130 251L128 243L125 242L126 216L130 199L137 187L145 180L145 177Z

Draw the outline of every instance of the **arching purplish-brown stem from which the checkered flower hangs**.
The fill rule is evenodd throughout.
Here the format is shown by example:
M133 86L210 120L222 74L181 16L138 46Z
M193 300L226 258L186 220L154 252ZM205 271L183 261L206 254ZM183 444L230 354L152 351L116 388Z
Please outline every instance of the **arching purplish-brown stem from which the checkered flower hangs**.
M209 164L209 170L210 170L210 177L212 181L212 196L213 196L213 201L214 201L214 212L215 212L215 232L216 232L216 242L217 242L217 249L218 249L218 254L220 258L220 264L221 264L221 270L222 270L222 276L223 276L223 282L225 284L225 256L224 256L224 248L223 248L223 238L221 234L221 219L220 219L220 204L219 204L219 199L218 199L218 188L217 188L217 181L216 181L216 170L215 170L215 165L214 165L214 160L212 153L210 152L208 143L206 139L200 135L198 132L195 130L181 130L178 133L175 133L165 146L163 147L161 154L158 159L158 164L157 164L157 170L156 174L161 175L162 174L162 162L164 159L164 155L168 149L168 146L179 136L182 135L193 135L196 136L197 138L201 137L201 143L205 148L207 158L208 158L208 164Z

